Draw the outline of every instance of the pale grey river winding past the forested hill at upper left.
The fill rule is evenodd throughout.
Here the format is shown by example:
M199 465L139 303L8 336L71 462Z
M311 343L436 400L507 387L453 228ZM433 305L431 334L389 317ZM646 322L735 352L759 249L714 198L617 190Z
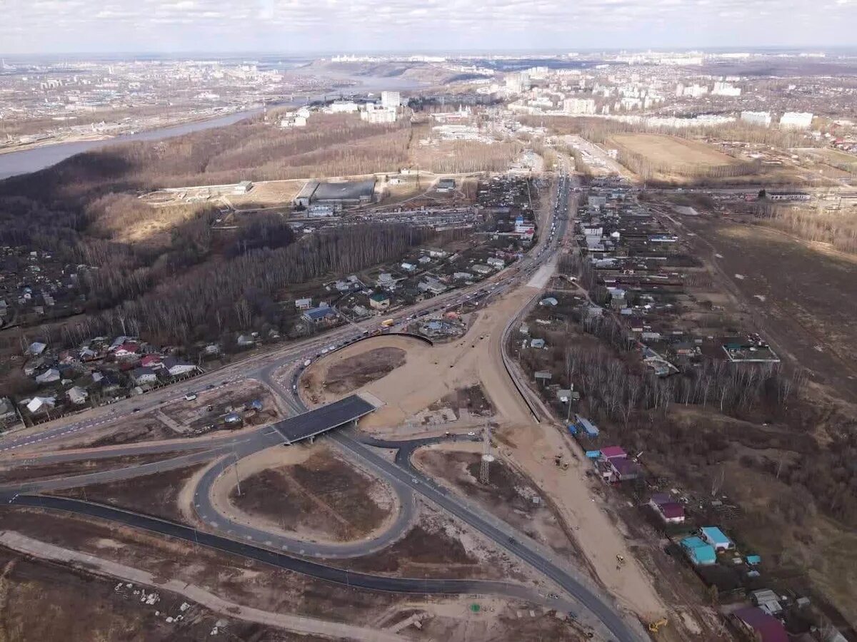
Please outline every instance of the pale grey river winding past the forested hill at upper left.
M343 87L340 89L331 90L326 94L318 94L310 96L309 100L322 100L326 97L342 92L351 94L355 92L369 93L380 92L384 89L393 91L411 90L419 87L419 83L403 78L384 78L375 76L357 76L347 74L330 74L332 80L356 80L360 83L358 86ZM305 104L306 100L302 99L299 103ZM278 106L288 106L288 103L279 104ZM114 138L105 140L84 140L74 143L56 143L54 145L45 145L41 147L33 147L32 149L21 150L21 152L8 152L0 154L0 181L9 176L18 174L28 174L30 172L39 171L51 167L60 161L65 160L75 154L81 152L89 152L93 149L116 145L117 143L127 143L134 140L163 140L191 132L199 132L203 129L211 129L215 127L224 127L231 125L233 122L238 122L249 116L255 116L261 112L261 107L253 110L236 111L226 116L218 116L203 121L186 122L183 125L173 125L171 127L151 129L146 132L137 134L123 134Z

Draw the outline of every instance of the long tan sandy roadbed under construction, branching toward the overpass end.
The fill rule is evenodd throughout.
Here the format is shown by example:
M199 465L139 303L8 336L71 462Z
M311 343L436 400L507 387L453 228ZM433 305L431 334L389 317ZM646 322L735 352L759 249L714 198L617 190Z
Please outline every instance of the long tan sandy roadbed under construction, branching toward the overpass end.
M658 619L666 607L652 586L651 578L638 563L624 537L622 526L608 514L600 496L590 487L584 465L569 452L569 444L552 425L536 424L530 410L508 377L500 356L500 340L509 318L537 293L536 288L518 288L511 294L476 313L470 330L461 339L430 347L404 337L381 336L341 350L344 357L372 349L393 346L407 350L405 366L358 391L368 391L385 406L364 418L360 427L375 434L395 432L403 436L405 420L431 406L455 390L476 383L494 407L495 433L503 444L503 455L512 466L534 481L542 496L551 502L572 529L589 570L627 609L644 620ZM320 360L323 363L325 360ZM319 402L334 401L333 395ZM413 427L412 436L422 435L424 427ZM566 452L572 468L560 471L554 455ZM582 453L578 454L580 458ZM616 556L630 563L616 568Z

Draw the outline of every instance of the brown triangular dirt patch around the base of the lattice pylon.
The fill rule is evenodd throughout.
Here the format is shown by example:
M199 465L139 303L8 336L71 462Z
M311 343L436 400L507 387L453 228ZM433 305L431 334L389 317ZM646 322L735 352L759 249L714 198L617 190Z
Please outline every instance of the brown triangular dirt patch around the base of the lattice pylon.
M458 490L489 513L549 546L559 555L576 558L580 562L578 551L563 532L559 520L545 505L536 484L501 459L491 464L488 484L480 484L482 445L467 445L470 452L458 449L464 446L458 443L430 446L417 451L413 460L424 473Z

